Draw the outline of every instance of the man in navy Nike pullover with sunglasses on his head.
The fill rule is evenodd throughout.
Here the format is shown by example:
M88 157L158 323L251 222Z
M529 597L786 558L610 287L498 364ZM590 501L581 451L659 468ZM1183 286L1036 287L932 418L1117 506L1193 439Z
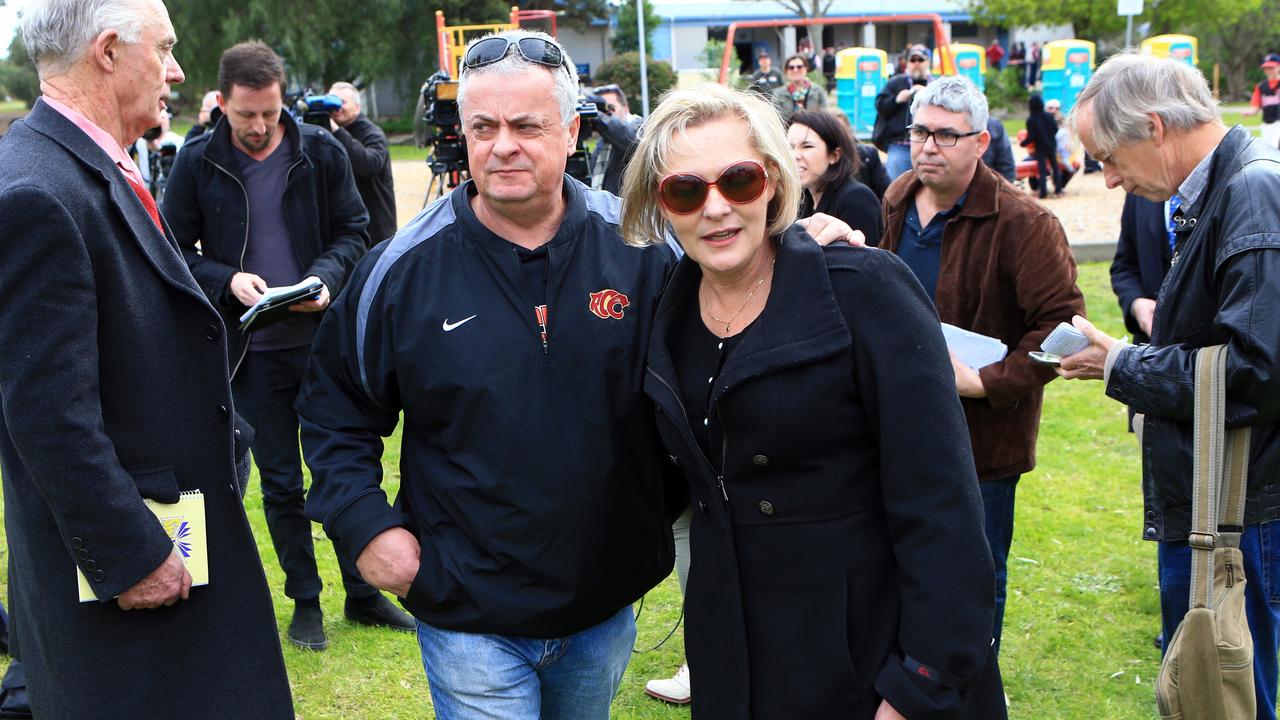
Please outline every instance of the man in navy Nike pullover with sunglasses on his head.
M307 512L419 619L444 720L608 717L630 603L672 566L643 382L675 256L622 243L620 200L564 174L576 96L549 36L471 45L472 179L356 268L298 398ZM379 436L402 415L393 506Z

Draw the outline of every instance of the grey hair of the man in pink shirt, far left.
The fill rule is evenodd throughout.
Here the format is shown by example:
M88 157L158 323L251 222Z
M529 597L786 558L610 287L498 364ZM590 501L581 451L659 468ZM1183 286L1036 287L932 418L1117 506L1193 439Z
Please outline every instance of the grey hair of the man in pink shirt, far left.
M140 0L32 0L19 13L22 44L41 78L70 69L108 29L137 42L146 22Z

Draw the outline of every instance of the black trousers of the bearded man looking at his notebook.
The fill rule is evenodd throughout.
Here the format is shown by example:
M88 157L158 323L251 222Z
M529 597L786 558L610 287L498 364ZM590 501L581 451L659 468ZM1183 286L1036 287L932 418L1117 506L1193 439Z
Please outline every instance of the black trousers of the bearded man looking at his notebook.
M232 379L236 410L253 425L253 462L262 479L262 510L275 556L284 570L284 594L293 600L320 597L311 520L303 514L302 451L298 447L298 398L311 347L250 351ZM356 561L334 543L347 596L372 597L378 588L360 577Z

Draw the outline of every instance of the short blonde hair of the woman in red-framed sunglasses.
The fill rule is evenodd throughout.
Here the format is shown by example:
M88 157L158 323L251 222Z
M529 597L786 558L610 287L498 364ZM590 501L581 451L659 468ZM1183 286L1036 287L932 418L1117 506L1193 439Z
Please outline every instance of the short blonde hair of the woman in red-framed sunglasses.
M667 219L658 200L658 181L668 172L666 160L677 135L714 120L746 123L748 140L764 156L764 167L776 190L765 213L765 233L781 234L796 220L800 208L800 174L782 119L756 95L707 83L695 90L668 92L649 115L622 176L622 238L627 245L658 245L666 241Z

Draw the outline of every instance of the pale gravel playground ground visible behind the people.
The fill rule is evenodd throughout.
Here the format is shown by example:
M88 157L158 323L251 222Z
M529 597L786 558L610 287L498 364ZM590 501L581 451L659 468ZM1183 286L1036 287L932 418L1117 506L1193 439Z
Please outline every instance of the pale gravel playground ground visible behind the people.
M397 220L403 227L422 209L430 176L426 163L420 160L397 160L392 163L392 173L396 177ZM1120 233L1124 192L1107 190L1102 173L1076 173L1066 186L1066 197L1046 200L1044 205L1062 222L1066 238L1078 247L1082 261L1110 258L1110 247ZM1084 254L1079 246L1087 245L1101 247Z

